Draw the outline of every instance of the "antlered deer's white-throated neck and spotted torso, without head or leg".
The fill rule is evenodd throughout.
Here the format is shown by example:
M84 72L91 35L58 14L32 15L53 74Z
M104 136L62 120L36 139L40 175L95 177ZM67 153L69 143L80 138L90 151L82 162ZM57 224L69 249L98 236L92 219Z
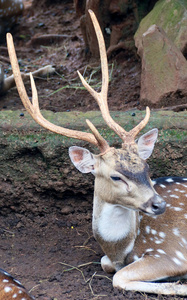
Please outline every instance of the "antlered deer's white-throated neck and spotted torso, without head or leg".
M169 265L173 270L173 275L171 273L170 277L178 276L179 268L181 268L181 275L187 273L187 214L185 213L187 196L185 194L182 196L180 192L184 191L183 188L187 181L183 178L173 178L174 183L171 188L174 190L172 193L171 184L168 184L166 180L167 178L161 178L158 180L159 183L155 183L154 186L159 191L159 195L167 197L167 209L162 215L145 215L116 206L110 208L109 213L105 207L102 207L100 212L93 211L94 235L113 265L116 262L121 266L128 265L149 255L153 259L160 260L161 263L164 259L168 260L168 263L170 262ZM160 185L166 186L164 191L160 190ZM94 198L94 205L99 206L98 199ZM115 246L111 246L111 244L115 244ZM119 261L115 256L120 257ZM168 264L166 267L168 268ZM106 266L103 265L103 268L105 269ZM112 271L118 271L118 267L114 267L110 272ZM164 277L167 277L166 275Z

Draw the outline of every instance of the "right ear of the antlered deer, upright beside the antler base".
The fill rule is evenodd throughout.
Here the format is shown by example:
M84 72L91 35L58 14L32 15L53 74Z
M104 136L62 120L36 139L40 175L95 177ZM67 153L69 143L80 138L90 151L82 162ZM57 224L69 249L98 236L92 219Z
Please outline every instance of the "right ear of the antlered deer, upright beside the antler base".
M139 138L138 154L142 159L145 160L151 156L157 137L158 129L154 128Z

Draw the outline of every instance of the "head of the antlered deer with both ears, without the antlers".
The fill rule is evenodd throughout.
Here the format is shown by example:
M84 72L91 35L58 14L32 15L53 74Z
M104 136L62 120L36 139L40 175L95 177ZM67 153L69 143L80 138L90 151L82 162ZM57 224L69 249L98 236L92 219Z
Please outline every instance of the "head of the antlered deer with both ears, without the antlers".
M108 148L94 155L73 146L69 155L80 172L95 176L95 197L106 203L160 214L165 210L165 201L154 191L145 161L156 138L157 129L153 129L141 136L137 144L127 144L122 149Z

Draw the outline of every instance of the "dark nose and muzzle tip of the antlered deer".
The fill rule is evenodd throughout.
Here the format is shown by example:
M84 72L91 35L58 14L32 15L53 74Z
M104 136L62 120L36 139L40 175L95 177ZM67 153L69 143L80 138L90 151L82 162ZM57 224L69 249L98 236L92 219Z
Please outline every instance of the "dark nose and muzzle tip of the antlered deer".
M155 195L150 198L146 203L143 204L142 210L147 213L160 215L165 212L166 201L162 199L159 195Z

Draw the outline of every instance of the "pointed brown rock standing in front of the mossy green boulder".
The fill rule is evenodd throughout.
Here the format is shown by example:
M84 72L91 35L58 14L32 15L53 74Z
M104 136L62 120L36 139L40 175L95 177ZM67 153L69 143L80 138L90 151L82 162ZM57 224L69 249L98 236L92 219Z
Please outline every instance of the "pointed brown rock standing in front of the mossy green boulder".
M138 45L141 104L166 107L187 103L187 61L165 32L152 25Z

